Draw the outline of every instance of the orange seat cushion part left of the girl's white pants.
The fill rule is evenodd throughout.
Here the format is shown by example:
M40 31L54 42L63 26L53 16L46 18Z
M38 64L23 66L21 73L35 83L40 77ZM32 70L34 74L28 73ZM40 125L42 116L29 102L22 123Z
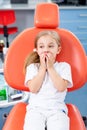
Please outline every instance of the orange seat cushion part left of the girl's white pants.
M23 130L26 105L18 103L12 108L2 130Z

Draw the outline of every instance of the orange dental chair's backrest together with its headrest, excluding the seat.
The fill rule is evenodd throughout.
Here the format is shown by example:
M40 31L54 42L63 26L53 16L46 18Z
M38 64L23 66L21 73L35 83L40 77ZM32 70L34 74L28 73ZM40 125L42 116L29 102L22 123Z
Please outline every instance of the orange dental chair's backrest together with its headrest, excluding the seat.
M57 22L56 22L57 21ZM25 57L34 48L34 39L42 30L55 30L61 37L62 51L58 61L66 61L71 65L73 88L82 87L86 80L86 54L78 38L70 31L61 29L59 25L59 8L56 4L38 4L34 17L35 27L25 29L12 42L4 63L4 75L7 83L16 89L28 91L24 86L23 66Z

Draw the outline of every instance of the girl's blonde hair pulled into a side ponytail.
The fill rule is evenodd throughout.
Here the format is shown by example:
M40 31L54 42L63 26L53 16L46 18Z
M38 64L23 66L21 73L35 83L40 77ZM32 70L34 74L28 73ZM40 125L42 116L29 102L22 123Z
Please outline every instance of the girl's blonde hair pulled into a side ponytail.
M52 31L52 30L50 30L50 31L45 30L45 31L41 31L37 34L37 36L35 38L35 42L34 42L35 48L37 48L37 42L38 42L39 38L42 36L46 36L46 35L50 35L58 43L58 46L60 46L60 37L59 37L58 33L56 31ZM27 66L29 66L32 63L40 63L40 58L36 51L32 51L25 59L24 72L26 72Z

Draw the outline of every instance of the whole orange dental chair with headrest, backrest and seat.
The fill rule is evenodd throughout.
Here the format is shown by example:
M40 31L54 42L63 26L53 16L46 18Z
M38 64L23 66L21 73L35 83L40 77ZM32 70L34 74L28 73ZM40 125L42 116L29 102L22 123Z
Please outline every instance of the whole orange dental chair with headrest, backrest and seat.
M35 10L33 28L25 29L12 42L4 63L4 76L7 83L22 91L29 91L24 86L23 66L26 56L34 48L34 39L39 31L54 30L61 37L62 50L58 61L66 61L71 65L73 87L68 91L81 88L86 79L86 54L78 38L68 30L59 28L59 8L53 3L38 4ZM16 104L9 113L2 130L23 130L26 103ZM77 107L67 104L70 117L70 130L86 130Z

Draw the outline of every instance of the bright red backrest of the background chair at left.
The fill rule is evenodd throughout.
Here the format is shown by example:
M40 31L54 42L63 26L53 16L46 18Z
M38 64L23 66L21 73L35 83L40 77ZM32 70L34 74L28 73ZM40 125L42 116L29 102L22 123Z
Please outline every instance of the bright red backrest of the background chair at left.
M0 24L6 26L16 20L14 10L0 10Z

